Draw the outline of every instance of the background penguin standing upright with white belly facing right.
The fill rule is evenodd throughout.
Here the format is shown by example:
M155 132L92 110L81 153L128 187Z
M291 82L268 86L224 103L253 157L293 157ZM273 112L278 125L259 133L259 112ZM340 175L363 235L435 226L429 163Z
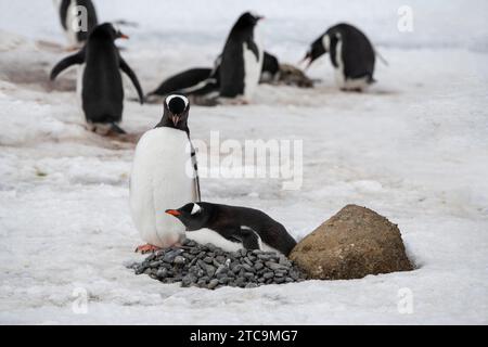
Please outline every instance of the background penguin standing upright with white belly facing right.
M261 16L246 12L232 27L222 51L219 94L222 98L253 97L262 69L264 51L255 27Z

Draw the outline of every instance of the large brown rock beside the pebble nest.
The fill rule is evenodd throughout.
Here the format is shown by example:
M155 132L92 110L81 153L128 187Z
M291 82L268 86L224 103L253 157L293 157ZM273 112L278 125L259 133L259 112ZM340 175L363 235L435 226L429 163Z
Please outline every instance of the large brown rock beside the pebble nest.
M308 278L319 280L413 269L398 227L357 205L347 205L301 240L290 258Z

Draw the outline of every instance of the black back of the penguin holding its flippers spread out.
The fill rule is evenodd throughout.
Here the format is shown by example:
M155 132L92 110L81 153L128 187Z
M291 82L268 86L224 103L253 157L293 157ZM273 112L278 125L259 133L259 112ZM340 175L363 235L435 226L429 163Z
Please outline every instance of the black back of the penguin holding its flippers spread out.
M120 57L113 39L97 35L97 30L90 35L86 47L82 108L88 121L118 123L124 107Z

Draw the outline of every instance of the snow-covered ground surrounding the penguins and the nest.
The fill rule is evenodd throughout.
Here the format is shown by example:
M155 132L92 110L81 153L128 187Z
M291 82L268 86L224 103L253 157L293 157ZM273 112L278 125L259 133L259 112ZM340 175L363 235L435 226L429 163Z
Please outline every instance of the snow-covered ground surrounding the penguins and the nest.
M294 64L328 26L362 28L389 62L367 93L338 92L324 57L312 90L260 86L249 105L192 107L194 139L304 141L300 190L214 178L203 196L266 210L297 239L348 203L368 206L399 224L418 269L215 292L136 277L125 267L142 258L128 208L133 144L85 130L74 72L48 81L66 54L46 43L65 43L52 1L0 0L0 323L488 323L486 1L409 1L413 33L397 29L402 1L95 4L102 21L139 24L123 28L123 55L145 91L209 66L247 9L267 17L267 49ZM126 100L123 126L143 132L160 113ZM73 309L76 288L86 314ZM398 309L404 293L411 313Z

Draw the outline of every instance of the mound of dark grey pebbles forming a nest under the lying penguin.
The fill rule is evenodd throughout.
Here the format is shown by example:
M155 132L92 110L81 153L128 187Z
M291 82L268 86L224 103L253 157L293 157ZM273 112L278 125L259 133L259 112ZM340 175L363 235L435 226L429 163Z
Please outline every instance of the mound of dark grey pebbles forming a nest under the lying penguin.
M284 255L260 249L226 252L213 244L185 240L182 246L157 250L132 266L163 283L216 290L221 286L254 288L266 284L301 282L305 275Z

